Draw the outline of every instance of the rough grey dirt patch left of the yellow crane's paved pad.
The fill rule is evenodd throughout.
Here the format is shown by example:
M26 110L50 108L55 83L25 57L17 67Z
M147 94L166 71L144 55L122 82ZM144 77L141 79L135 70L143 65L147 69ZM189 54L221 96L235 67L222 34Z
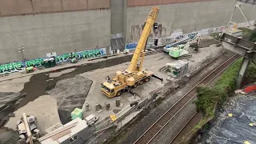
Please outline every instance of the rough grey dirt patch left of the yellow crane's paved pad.
M82 108L92 83L90 79L76 75L58 81L53 89L46 91L57 100L62 124L70 122L70 114L75 108Z

